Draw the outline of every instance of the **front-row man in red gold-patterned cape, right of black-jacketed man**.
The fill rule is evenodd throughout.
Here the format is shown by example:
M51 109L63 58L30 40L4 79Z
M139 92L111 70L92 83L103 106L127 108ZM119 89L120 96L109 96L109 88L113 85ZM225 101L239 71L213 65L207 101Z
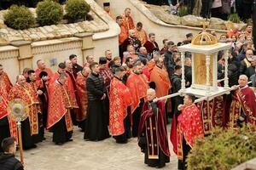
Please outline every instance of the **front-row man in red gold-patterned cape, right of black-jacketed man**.
M122 82L124 75L124 67L115 69L109 93L109 129L119 144L125 144L131 138L131 113L128 109L132 100L129 88Z

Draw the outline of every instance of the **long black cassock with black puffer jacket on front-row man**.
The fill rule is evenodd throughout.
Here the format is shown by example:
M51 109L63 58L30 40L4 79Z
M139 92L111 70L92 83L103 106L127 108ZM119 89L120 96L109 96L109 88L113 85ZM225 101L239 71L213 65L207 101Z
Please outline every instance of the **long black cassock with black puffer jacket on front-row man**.
M91 73L86 81L88 91L88 111L84 128L84 139L102 140L109 138L108 122L106 120L106 102L102 99L105 93L103 79L100 75Z

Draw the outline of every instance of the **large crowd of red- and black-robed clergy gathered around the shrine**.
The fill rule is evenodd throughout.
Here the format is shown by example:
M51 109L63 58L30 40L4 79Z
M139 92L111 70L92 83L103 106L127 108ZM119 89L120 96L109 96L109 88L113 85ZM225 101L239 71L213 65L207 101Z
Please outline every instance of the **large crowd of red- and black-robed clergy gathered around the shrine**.
M109 4L105 4L105 7ZM105 8L108 14L111 14ZM185 159L195 144L213 127L238 128L243 123L256 125L255 66L252 26L232 31L219 37L219 42L232 43L228 59L230 95L218 96L207 103L194 104L195 96L186 94L172 99L159 100L181 89L182 66L177 46L188 44L193 34L188 33L183 42L175 44L164 39L162 48L155 42L154 33L146 33L143 24L134 24L131 8L116 17L120 26L119 56L113 57L106 49L105 56L96 62L93 55L86 57L84 65L78 57L58 65L53 73L44 62L37 61L38 68L24 69L13 85L3 65L0 65L0 141L3 141L0 166L15 148L17 139L15 120L9 116L7 106L13 99L21 99L28 105L28 117L22 121L21 131L25 150L37 147L44 141L45 130L52 133L55 144L72 141L73 126L84 133L84 140L100 141L110 134L116 143L126 144L131 137L145 154L150 167L164 167L170 159L166 124L172 118L171 141L178 157L178 169L186 169ZM211 32L213 36L215 32ZM192 83L191 54L185 58L186 87ZM224 78L224 53L218 53L218 79ZM219 86L222 86L221 82ZM210 117L207 115L210 111ZM6 144L8 140L8 144ZM14 151L10 151L14 153ZM10 156L11 157L11 156Z

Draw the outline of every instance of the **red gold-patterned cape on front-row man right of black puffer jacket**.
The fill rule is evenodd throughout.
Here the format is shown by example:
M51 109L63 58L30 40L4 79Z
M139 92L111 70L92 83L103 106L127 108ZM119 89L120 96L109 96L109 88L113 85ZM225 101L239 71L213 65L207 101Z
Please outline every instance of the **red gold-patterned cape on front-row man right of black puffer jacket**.
M113 77L109 93L109 129L113 136L125 133L124 119L131 105L129 88L118 78Z

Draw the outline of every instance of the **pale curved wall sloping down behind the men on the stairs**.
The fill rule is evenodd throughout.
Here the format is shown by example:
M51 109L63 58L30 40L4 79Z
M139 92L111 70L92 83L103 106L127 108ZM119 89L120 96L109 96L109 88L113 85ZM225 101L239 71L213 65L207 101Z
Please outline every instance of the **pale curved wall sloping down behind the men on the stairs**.
M114 16L123 14L124 9L127 7L131 8L131 16L134 19L135 24L138 21L142 21L143 27L148 33L154 32L156 34L156 41L160 46L162 45L161 41L164 38L168 38L173 42L181 42L184 40L187 33L192 32L193 34L197 34L202 30L199 27L166 24L149 11L144 3L138 0L96 0L96 3L100 6L105 2L110 2L111 12ZM225 31L216 32L219 36Z

